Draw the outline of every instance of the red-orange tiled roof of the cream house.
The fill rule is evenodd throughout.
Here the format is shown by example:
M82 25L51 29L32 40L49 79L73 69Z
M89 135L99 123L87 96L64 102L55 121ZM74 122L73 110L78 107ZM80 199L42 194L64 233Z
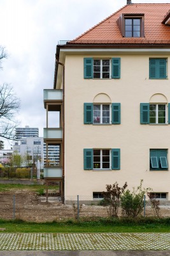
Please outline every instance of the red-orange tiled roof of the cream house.
M162 24L170 4L127 4L107 19L71 41L71 44L170 44L170 27ZM122 37L117 19L122 13L145 14L145 37Z

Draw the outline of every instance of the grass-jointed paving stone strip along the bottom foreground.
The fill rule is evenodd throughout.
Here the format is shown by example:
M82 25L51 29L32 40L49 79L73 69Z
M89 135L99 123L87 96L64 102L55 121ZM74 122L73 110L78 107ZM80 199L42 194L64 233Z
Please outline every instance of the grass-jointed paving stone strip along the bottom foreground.
M170 250L170 233L0 233L0 250Z

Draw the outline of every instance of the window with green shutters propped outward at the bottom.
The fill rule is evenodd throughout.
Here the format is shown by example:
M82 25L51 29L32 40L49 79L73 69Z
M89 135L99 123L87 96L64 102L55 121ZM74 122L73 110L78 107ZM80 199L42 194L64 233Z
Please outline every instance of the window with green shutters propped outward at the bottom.
M167 149L150 149L150 170L168 170Z

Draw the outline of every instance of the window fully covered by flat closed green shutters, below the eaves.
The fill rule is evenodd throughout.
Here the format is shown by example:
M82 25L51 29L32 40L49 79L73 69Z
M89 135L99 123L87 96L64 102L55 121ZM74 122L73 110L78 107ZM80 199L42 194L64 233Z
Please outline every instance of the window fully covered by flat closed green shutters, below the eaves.
M167 59L150 59L149 77L150 79L167 78Z

